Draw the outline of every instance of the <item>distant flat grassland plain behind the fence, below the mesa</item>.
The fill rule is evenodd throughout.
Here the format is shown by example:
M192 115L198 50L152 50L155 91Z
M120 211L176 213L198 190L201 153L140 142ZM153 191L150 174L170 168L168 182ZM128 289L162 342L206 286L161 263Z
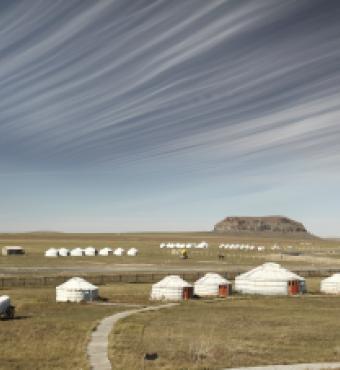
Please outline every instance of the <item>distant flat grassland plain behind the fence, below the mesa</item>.
M190 250L189 260L183 261L173 255L170 250L159 248L161 242L200 242L209 243L208 250ZM223 261L217 259L220 243L249 243L265 245L265 252L224 251ZM279 244L280 251L271 251L268 247ZM265 261L280 261L287 267L314 266L340 267L340 244L338 241L317 238L296 239L262 235L221 235L214 233L139 233L139 234L64 234L64 233L27 233L0 234L0 248L5 245L22 245L27 252L22 257L0 257L0 274L5 269L28 269L28 273L45 275L49 272L60 272L60 269L78 267L92 271L124 271L133 268L135 271L158 271L159 269L196 269L196 270L225 270L237 266L254 266ZM46 258L44 251L50 247L74 248L88 245L102 248L137 247L140 251L137 257L59 257ZM301 256L283 255L288 251L287 246L293 246L289 251L298 251ZM29 270L29 269L32 270ZM34 271L35 268L35 271Z

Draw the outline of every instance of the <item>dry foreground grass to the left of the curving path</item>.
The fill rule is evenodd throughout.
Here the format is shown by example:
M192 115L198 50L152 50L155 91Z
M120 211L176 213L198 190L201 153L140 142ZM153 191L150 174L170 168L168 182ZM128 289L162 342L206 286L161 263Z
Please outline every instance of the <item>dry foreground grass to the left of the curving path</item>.
M133 294L132 294L133 293ZM100 295L119 303L148 303L149 286L116 284ZM15 320L0 321L0 369L88 369L86 345L97 322L123 306L56 303L54 288L7 289Z

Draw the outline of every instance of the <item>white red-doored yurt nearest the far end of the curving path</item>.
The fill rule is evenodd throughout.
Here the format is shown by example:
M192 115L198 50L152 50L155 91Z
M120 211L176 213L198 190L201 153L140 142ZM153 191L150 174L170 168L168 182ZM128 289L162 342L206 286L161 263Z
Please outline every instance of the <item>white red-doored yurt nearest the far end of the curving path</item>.
M170 275L152 285L150 298L180 301L193 296L193 286L177 275Z

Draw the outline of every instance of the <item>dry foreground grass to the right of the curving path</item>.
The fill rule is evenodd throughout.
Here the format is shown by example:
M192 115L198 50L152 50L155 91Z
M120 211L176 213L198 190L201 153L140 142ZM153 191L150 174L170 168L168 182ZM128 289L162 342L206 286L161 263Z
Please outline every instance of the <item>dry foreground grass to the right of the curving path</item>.
M340 297L234 296L190 301L121 320L110 336L113 369L221 369L340 361ZM313 294L314 292L314 294ZM144 361L145 353L158 354ZM143 367L144 366L144 367Z

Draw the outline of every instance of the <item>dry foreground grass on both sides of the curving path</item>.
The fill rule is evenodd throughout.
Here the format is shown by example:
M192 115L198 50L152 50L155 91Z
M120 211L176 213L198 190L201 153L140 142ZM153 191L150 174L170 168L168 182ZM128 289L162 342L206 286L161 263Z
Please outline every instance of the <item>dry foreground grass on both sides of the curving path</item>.
M145 369L340 361L340 297L320 296L320 279L307 280L305 297L195 300L118 323L110 337L114 369L142 369L147 352L159 359ZM56 303L54 288L13 288L16 320L0 321L0 369L88 369L86 345L98 321L150 305L148 284L100 287L117 306Z

